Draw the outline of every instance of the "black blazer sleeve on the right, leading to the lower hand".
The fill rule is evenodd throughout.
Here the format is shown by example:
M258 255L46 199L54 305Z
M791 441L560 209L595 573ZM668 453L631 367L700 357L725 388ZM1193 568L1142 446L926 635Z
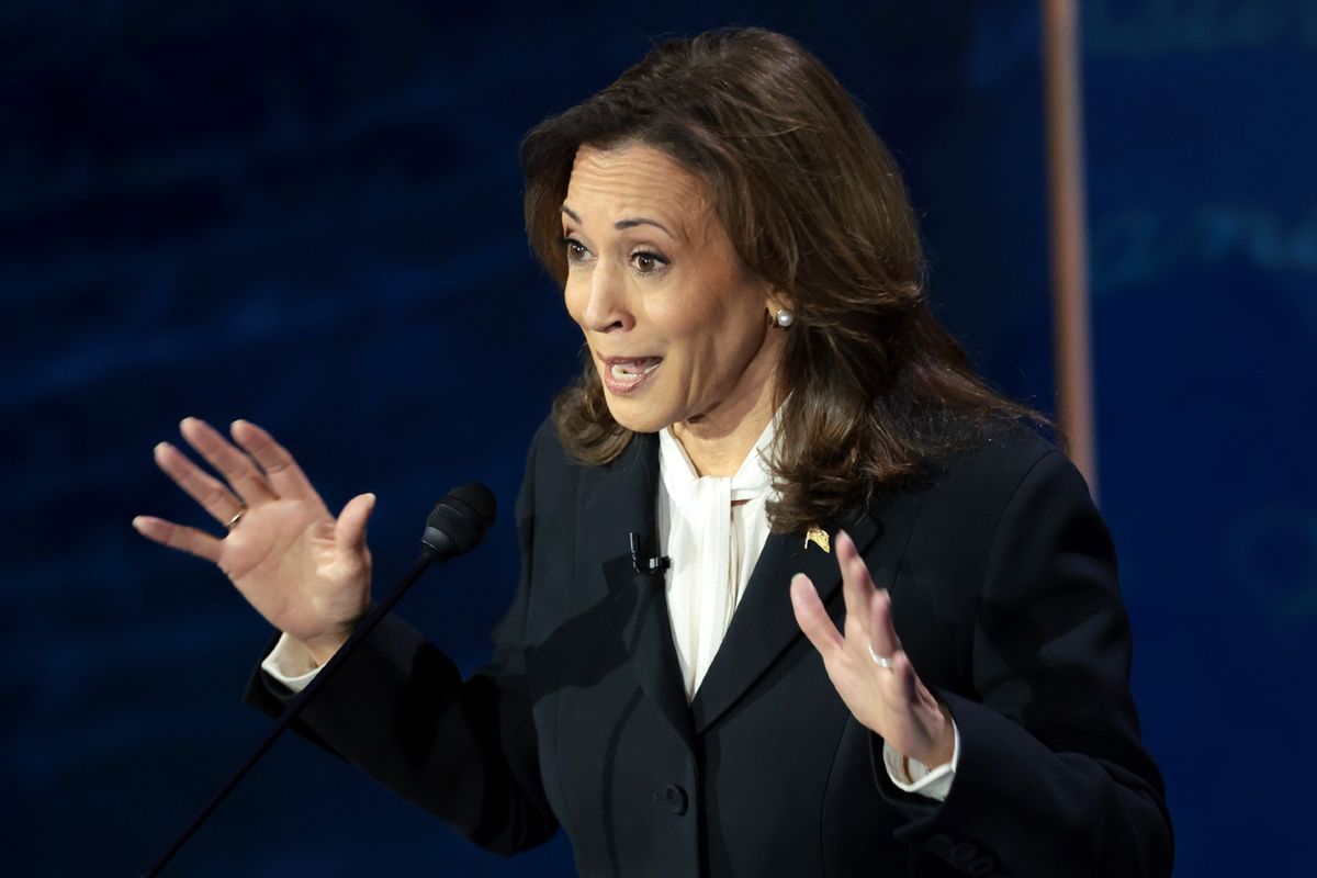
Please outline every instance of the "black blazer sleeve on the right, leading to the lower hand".
M947 799L901 792L874 753L878 786L911 817L897 837L968 874L1169 875L1171 821L1139 740L1114 549L1059 452L1006 503L973 617L973 691L938 691L961 740Z

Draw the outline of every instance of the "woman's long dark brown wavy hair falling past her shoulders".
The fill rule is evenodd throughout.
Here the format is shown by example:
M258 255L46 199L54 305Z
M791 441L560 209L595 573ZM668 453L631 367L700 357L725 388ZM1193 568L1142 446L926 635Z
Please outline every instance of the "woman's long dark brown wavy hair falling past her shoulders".
M525 136L527 232L560 286L560 212L586 143L656 147L702 179L740 259L795 316L777 374L774 530L832 519L972 444L990 421L1042 420L976 378L934 320L896 162L794 39L727 29L664 42ZM583 361L554 419L573 457L607 463L632 434Z

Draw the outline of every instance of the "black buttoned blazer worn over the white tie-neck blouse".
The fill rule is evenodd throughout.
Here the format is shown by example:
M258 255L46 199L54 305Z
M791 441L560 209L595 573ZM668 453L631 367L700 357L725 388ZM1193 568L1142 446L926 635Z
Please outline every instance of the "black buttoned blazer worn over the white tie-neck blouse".
M1110 538L1083 479L1004 428L922 483L830 523L892 591L897 632L955 716L944 803L888 779L881 740L799 632L792 574L842 617L834 555L774 534L686 704L655 532L656 436L614 463L551 424L518 500L522 583L491 665L461 681L398 620L303 733L499 852L561 825L582 875L1167 875L1162 778L1139 742ZM249 699L278 710L257 674Z

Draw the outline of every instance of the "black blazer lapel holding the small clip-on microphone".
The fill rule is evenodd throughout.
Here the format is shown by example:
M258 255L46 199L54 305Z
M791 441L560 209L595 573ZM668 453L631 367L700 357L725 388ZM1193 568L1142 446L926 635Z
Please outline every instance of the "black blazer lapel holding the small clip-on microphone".
M631 558L632 533L655 545L657 491L658 437L636 434L610 467L590 470L590 477L583 479L578 520L595 523L591 527L593 557L601 563L608 591L623 613L623 644L635 662L641 688L682 741L694 749L690 708L668 620L664 575L636 573Z

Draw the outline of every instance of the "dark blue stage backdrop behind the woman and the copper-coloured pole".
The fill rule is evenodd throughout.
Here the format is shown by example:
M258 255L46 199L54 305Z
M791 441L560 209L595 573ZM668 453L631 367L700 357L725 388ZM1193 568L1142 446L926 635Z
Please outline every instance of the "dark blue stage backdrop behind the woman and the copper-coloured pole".
M1084 4L1101 504L1179 875L1310 869L1317 721L1317 8ZM578 336L522 230L519 137L651 39L782 29L868 107L939 313L1052 408L1033 3L0 7L7 874L145 869L266 728L269 636L140 538L203 524L151 446L248 417L332 507L373 490L378 583L489 483L487 544L404 604L465 669L516 557L525 444ZM572 874L471 848L279 744L167 874Z

